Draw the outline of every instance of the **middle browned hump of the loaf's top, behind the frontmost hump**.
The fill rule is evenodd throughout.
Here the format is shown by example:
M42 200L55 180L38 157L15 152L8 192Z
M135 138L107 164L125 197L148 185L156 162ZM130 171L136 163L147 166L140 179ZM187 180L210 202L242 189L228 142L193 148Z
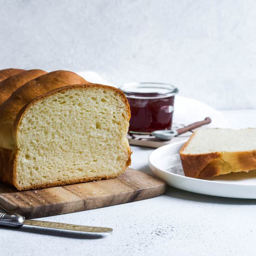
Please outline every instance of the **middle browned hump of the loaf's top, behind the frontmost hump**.
M0 82L0 104L6 101L14 91L20 88L26 82L37 78L40 75L47 74L40 69L32 69L18 74L14 74L4 81Z

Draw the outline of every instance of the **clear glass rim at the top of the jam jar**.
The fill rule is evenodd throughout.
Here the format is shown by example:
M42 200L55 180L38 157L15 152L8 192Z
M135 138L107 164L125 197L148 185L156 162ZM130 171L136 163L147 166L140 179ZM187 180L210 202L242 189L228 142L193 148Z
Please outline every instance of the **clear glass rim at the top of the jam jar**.
M125 89L127 86L129 87L133 87L136 88L135 86L137 86L138 88L141 86L141 88L143 88L143 85L155 85L159 88L168 90L168 92L164 92L164 93L158 93L158 92L154 92L154 93L145 93L145 92L134 92L132 90L128 90ZM144 88L147 88L146 86ZM149 88L149 87L148 87ZM121 91L123 91L123 93L129 97L129 98L137 98L137 99L158 99L158 98L166 98L166 97L171 97L174 96L175 94L177 94L179 92L178 88L176 88L174 85L172 84L168 84L168 83L161 83L161 82L129 82L129 83L125 83L122 86L119 87L119 89Z

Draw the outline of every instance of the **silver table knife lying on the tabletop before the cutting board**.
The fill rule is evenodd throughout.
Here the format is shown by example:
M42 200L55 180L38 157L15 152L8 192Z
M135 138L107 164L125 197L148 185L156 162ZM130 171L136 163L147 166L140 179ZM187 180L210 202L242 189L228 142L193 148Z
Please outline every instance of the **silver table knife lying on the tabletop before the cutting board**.
M20 216L19 214L16 214L16 213L13 213L12 215L7 213L0 213L0 226L9 227L9 228L20 228L23 225L37 226L37 227L50 228L50 229L65 229L65 230L73 230L73 231L80 231L80 232L91 232L91 233L104 233L104 232L113 231L113 229L110 229L110 228L81 226L81 225L73 225L73 224L58 223L58 222L26 220L25 217Z

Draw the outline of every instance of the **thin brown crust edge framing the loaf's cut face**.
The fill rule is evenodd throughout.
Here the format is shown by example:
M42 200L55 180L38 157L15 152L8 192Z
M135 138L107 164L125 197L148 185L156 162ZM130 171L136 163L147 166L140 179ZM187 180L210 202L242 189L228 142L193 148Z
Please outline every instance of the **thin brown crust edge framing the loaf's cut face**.
M111 86L105 86L105 85L101 85L101 84L83 84L83 85L70 85L70 86L65 86L62 88L57 88L54 89L53 91L48 92L47 94L42 94L38 97L36 97L33 101L29 102L28 104L26 104L18 113L14 124L13 124L13 137L14 137L14 141L15 144L19 144L19 142L17 141L17 135L19 132L19 126L20 126L20 122L22 120L22 118L26 115L26 112L29 108L33 108L34 104L36 104L38 101L47 98L51 95L57 94L59 92L63 92L63 91L67 91L67 90L73 90L73 89L90 89L90 88L102 88L102 89L108 89L108 90L112 90L115 93L121 95L121 99L124 102L125 106L126 106L126 111L128 113L128 119L127 121L129 121L130 119L130 108L129 108L129 104L128 104L128 100L125 97L125 94L114 87ZM13 151L9 150L9 161L8 164L6 164L6 167L8 169L8 175L5 175L5 179L3 181L13 185L16 187L16 189L18 190L28 190L28 189L39 189L39 188L47 188L47 187L52 187L52 186L60 186L60 185L67 185L67 184L74 184L74 183L79 183L79 182L89 182L89 181L93 181L93 180L101 180L101 179L110 179L110 178L115 178L118 175L121 175L126 168L131 164L131 149L128 146L127 148L128 151L128 155L127 155L127 162L125 165L125 168L123 170L121 170L120 172L118 172L115 175L108 175L108 176L97 176L97 177L85 177L83 179L73 179L73 180L66 180L66 181L58 181L58 182L46 182L44 184L40 184L40 185L31 185L28 187L20 187L20 185L16 182L17 181L17 159L19 157L19 149L15 148ZM11 153L13 152L13 153ZM6 162L6 160L5 160Z

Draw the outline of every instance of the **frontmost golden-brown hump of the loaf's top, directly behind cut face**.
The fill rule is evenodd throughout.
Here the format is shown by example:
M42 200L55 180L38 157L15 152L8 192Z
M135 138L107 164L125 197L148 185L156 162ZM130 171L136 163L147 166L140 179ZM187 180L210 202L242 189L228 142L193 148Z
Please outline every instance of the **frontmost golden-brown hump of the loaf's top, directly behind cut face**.
M0 148L13 149L13 123L21 108L34 98L71 84L89 83L70 71L54 71L28 81L0 105Z

